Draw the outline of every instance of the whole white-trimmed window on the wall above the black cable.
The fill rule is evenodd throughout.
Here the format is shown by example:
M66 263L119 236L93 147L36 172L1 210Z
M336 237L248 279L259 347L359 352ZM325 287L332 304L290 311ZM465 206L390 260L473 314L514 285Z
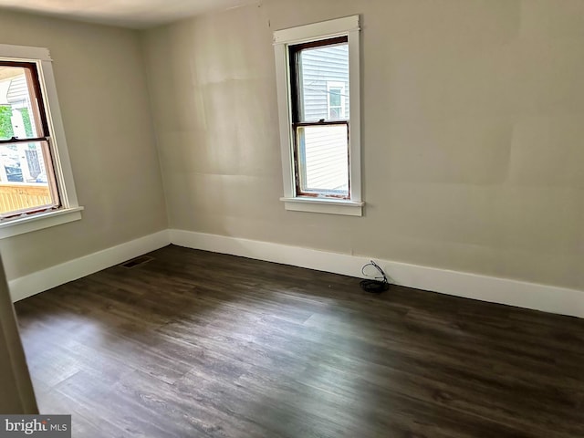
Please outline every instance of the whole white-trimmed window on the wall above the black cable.
M274 33L287 210L362 214L359 16Z

